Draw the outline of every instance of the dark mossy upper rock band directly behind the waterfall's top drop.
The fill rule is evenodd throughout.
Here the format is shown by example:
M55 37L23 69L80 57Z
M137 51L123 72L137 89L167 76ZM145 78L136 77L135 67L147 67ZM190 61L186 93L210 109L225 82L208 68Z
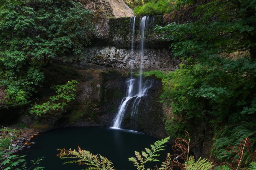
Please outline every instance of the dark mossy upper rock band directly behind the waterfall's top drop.
M140 21L142 17L135 18L134 30L134 48L140 48L141 33ZM132 27L133 18L111 18L108 22L109 25L109 38L108 44L118 48L131 49L132 43ZM149 16L148 26L145 27L144 33L144 47L145 48L166 48L168 49L170 43L160 39L160 36L154 32L155 26L165 26L164 18L162 15Z

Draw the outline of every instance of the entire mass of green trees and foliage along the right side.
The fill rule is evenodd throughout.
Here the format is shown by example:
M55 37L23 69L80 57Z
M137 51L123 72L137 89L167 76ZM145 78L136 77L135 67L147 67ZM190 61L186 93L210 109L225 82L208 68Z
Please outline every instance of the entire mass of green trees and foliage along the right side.
M163 78L161 98L174 115L167 117L166 130L173 136L197 127L203 137L211 126L212 154L230 164L234 152L226 147L249 137L248 167L256 149L256 0L175 2L185 10L195 6L196 19L156 27L183 59L179 70Z

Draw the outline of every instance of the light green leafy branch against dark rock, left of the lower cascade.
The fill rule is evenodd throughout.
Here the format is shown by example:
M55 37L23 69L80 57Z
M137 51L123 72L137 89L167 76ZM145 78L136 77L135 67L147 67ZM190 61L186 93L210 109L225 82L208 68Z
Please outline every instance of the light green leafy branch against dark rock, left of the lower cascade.
M53 89L57 94L49 97L48 101L42 103L41 105L34 104L29 109L29 113L41 116L53 110L63 109L67 105L67 102L74 100L76 97L76 95L73 93L76 91L75 84L78 84L78 81L71 80L65 85L54 86Z

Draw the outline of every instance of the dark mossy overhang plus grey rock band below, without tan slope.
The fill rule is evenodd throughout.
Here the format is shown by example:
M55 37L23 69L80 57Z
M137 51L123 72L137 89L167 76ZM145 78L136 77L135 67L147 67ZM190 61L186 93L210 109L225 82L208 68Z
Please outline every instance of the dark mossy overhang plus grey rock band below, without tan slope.
M170 43L161 40L159 35L154 32L156 25L164 26L166 24L163 16L149 16L148 27L144 33L144 54L141 60L140 19L140 17L135 18L133 49L131 49L132 18L111 18L106 25L108 27L107 38L92 40L91 46L84 48L82 56L72 62L84 66L140 68L142 61L143 68L178 68L180 59L173 57L169 49ZM105 36L106 34L103 33L102 35Z

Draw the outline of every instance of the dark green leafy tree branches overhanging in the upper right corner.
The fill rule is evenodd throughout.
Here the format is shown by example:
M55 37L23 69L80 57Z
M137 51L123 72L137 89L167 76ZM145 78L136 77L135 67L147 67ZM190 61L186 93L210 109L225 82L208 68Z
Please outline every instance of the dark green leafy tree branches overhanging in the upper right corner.
M198 5L195 17L185 24L156 27L163 38L173 41L171 48L179 57L209 55L249 49L255 58L256 1L216 0ZM166 33L166 34L165 34Z

